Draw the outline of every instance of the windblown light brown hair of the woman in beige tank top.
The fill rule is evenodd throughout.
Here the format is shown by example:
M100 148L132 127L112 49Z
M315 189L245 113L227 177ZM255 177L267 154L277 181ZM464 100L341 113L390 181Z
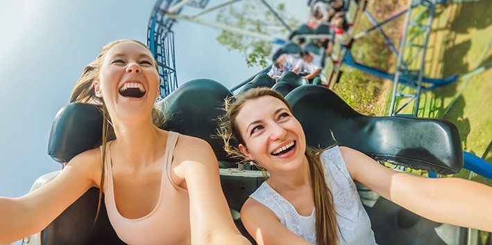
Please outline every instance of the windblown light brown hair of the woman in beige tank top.
M70 102L81 102L81 103L93 103L99 105L101 109L101 113L103 114L103 135L101 138L102 152L101 152L101 182L99 183L99 203L97 204L97 212L96 219L94 219L94 224L99 217L99 211L101 210L101 201L103 197L103 188L104 188L104 176L105 176L105 155L106 155L106 146L108 145L108 141L114 139L116 136L114 135L114 129L112 127L111 118L108 113L108 109L104 105L103 98L99 98L96 96L94 92L94 81L99 79L99 73L101 73L101 66L103 64L103 60L108 51L116 44L120 44L123 42L134 42L136 44L140 44L147 48L149 48L139 42L137 40L131 39L121 39L110 42L106 44L101 53L96 57L95 60L87 64L84 68L84 71L77 83L74 86L74 89L71 91ZM150 50L149 50L150 51ZM153 59L153 57L151 57ZM155 60L152 60L153 64L155 64L155 69L159 71L158 64ZM164 114L157 107L153 107L152 110L154 124L160 127L164 123Z

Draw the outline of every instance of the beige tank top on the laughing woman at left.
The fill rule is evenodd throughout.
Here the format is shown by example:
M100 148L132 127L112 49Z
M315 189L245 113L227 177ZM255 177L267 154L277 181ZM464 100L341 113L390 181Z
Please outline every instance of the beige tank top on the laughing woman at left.
M179 134L169 131L162 164L160 197L155 208L144 217L127 219L114 201L112 163L108 144L105 160L105 198L108 217L118 237L127 244L190 244L189 195L171 180L171 161Z

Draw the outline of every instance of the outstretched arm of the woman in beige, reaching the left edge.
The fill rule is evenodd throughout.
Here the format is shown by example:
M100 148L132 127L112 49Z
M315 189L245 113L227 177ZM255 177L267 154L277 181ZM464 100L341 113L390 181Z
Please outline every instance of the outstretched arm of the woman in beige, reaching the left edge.
M100 179L98 149L75 156L55 179L22 197L0 197L0 244L40 232ZM99 182L98 182L99 183Z

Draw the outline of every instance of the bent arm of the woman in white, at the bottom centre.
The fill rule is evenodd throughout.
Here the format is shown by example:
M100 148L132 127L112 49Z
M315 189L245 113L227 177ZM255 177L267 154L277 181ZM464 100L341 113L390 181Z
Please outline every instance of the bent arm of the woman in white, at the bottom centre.
M241 221L255 241L262 244L310 244L280 223L275 213L253 198L241 208Z

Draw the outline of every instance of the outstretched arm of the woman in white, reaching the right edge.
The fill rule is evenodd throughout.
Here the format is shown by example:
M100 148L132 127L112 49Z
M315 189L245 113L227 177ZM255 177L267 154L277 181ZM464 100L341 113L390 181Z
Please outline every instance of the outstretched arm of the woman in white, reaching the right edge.
M352 179L382 197L427 219L492 232L491 187L464 179L397 172L355 149L340 149Z

